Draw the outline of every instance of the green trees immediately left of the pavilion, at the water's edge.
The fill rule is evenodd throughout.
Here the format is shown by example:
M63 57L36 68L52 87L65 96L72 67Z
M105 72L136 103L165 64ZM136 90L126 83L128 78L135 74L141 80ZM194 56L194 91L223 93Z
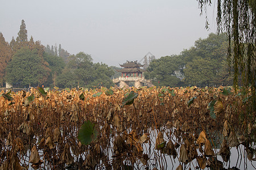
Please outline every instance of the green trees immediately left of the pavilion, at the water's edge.
M56 83L59 87L88 87L113 86L110 79L114 71L108 65L93 63L89 54L80 52L71 55L63 72L57 76Z

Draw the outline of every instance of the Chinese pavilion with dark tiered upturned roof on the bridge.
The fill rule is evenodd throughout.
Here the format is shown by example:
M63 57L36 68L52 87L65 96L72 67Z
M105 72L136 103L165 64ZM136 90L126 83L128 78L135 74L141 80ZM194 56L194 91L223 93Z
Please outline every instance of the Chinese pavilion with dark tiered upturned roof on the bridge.
M124 68L121 70L117 70L117 71L121 72L122 77L125 77L125 78L129 78L129 77L139 78L139 76L141 76L141 78L142 78L142 73L146 71L144 69L140 69L140 67L143 67L144 65L141 65L141 63L138 63L137 60L136 61L126 61L126 63L123 63L120 66L124 67Z

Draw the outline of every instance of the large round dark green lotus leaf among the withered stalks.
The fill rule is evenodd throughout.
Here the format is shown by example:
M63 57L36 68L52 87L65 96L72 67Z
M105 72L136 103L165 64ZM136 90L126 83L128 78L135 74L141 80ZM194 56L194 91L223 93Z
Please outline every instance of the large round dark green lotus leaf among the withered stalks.
M79 130L79 141L81 141L83 145L90 145L90 143L94 141L97 136L98 131L95 128L95 124L90 121L85 121Z

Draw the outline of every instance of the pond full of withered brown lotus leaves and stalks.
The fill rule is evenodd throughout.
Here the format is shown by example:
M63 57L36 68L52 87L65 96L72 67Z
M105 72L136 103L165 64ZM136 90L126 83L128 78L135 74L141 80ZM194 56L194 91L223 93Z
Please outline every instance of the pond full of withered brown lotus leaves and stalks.
M256 167L255 111L232 87L1 94L0 169Z

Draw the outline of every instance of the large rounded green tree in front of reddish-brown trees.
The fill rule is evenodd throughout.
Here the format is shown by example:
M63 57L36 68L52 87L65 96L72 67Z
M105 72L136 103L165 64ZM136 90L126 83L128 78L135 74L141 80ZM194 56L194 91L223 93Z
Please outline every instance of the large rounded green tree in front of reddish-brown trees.
M45 82L47 70L37 50L19 49L6 68L6 81L19 87L38 86Z

